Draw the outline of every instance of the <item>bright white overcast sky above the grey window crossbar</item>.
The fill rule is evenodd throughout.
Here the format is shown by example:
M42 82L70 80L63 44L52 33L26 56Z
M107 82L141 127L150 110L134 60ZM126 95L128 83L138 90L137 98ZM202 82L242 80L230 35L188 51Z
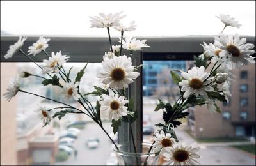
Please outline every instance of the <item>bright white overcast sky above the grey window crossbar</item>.
M106 36L90 28L89 16L124 11L134 36L216 35L229 14L243 26L226 34L255 36L255 1L1 1L1 31L13 35ZM119 35L112 30L111 34Z

